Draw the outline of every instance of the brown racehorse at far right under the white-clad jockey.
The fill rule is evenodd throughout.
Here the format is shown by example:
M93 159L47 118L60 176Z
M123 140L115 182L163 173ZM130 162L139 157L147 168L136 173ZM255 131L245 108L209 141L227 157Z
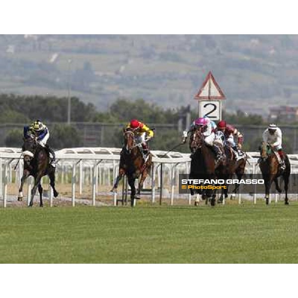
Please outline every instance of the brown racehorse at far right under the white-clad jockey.
M279 160L277 157L277 153L273 150L272 146L266 142L262 142L262 145L260 146L261 150L261 158L259 160L259 166L263 175L263 179L265 182L265 199L266 199L266 205L269 204L269 193L271 184L274 181L276 190L281 193L282 190L278 185L277 178L282 176L284 178L285 183L285 204L289 205L288 200L288 184L289 184L289 177L291 173L291 164L289 157L286 153L285 154L285 165L286 168L284 170L281 169L279 165Z

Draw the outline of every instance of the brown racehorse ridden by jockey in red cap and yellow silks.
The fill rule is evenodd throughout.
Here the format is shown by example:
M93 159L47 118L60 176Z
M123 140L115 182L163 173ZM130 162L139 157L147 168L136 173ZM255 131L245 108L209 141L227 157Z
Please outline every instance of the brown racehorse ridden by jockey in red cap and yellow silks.
M124 131L124 147L120 153L119 173L116 178L112 192L117 191L118 184L124 175L127 175L128 184L131 188L131 207L134 207L134 200L140 199L143 184L150 172L152 155L149 153L144 161L139 146L136 145L135 134L131 130ZM140 145L141 146L141 145ZM135 180L139 179L138 192L136 193Z

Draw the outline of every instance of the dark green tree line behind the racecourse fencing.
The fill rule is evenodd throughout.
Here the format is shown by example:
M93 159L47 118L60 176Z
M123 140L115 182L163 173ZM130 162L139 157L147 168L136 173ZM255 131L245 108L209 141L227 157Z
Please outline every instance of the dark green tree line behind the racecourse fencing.
M119 124L113 131L113 145L122 144L121 125L125 126L131 119L137 118L147 124L172 124L172 129L159 129L155 134L151 149L170 149L181 140L177 131L179 118L185 113L186 107L164 109L149 103L144 99L135 101L119 98L109 106L107 111L98 111L91 103L84 103L77 97L72 97L72 122L100 122ZM28 124L40 119L51 127L49 145L55 149L78 147L82 144L79 131L75 126L68 126L67 119L68 99L56 96L27 96L14 94L0 94L0 123ZM191 119L197 118L197 111L191 111ZM235 114L223 112L223 118L231 124L267 125L260 115L247 115L243 111ZM51 125L56 123L55 125ZM6 146L17 146L22 137L22 130L11 130L6 136ZM250 149L250 140L246 140L246 147ZM187 152L188 146L179 148Z

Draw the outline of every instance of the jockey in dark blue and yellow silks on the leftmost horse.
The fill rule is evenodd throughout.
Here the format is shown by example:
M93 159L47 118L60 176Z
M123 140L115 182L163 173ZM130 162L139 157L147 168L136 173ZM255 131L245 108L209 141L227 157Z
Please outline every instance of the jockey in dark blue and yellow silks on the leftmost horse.
M24 126L24 138L27 138L29 135L33 135L37 138L37 142L40 146L47 149L48 153L52 154L51 165L56 166L55 152L49 147L47 141L50 137L49 129L44 125L40 120L36 120L31 123L29 126ZM50 154L49 154L50 155Z

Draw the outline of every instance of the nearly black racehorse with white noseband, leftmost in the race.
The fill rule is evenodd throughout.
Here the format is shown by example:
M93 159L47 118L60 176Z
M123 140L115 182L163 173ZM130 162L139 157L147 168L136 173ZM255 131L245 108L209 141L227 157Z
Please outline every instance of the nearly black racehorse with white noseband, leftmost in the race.
M42 202L42 192L43 188L41 186L40 180L43 176L48 175L50 178L50 185L53 188L53 194L56 198L58 192L55 189L55 167L50 164L50 156L46 149L43 148L36 140L34 136L28 136L23 139L24 144L22 146L22 155L24 156L24 171L21 178L21 185L19 188L18 201L23 200L23 185L28 176L34 177L34 186L31 190L31 199L29 207L33 206L33 198L35 196L36 190L38 188L40 197L40 207L43 207Z

